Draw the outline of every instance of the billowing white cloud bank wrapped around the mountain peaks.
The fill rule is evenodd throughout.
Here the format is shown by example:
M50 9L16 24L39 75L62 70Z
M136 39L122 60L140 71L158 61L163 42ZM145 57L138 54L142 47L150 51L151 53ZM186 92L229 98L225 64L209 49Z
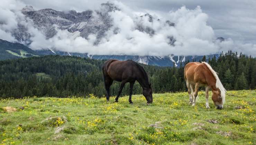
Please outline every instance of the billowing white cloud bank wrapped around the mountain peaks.
M89 35L87 40L82 37L71 37L72 33L67 30L59 30L57 26L57 34L50 39L46 39L41 31L33 27L33 22L20 13L20 6L25 4L16 0L4 0L3 3L0 12L5 15L0 16L0 38L15 41L11 32L17 28L19 22L28 29L28 33L31 35L32 43L29 47L32 49L54 48L61 51L89 53L91 55L140 56L209 55L232 50L256 56L256 46L253 43L244 44L231 38L223 42L215 41L214 30L208 25L209 16L202 11L200 6L194 9L183 6L165 15L150 11L154 20L149 22L148 16L140 17L141 14L145 14L145 10L135 11L121 2L114 1L121 11L109 12L113 19L113 26L106 32L106 37L102 38L99 44L95 46L93 45L96 40L95 35ZM20 6L17 6L18 4ZM175 27L166 25L166 20L174 22ZM154 35L137 30L137 25L153 29ZM113 33L115 28L119 28L117 34ZM168 44L170 41L168 38L170 37L176 39L175 46Z

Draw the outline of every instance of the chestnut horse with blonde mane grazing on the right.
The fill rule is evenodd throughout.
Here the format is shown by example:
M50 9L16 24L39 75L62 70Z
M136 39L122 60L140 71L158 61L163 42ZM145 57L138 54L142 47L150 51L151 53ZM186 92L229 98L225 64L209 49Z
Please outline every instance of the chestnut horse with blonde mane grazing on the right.
M217 109L222 109L225 102L226 90L220 82L217 73L207 62L190 62L184 68L184 79L188 87L189 100L195 106L195 99L200 86L205 86L206 108L208 103L208 91L212 90L212 100Z

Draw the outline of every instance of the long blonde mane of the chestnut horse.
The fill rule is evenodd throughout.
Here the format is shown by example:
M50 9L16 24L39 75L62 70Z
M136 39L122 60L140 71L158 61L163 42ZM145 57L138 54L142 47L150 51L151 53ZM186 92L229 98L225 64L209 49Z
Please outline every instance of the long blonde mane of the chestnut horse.
M215 79L216 79L216 88L220 89L220 95L221 95L221 98L222 98L222 105L224 105L226 89L221 84L221 81L220 81L220 79L219 79L219 77L217 75L217 72L214 71L212 69L212 67L207 62L202 62L202 64L205 64L210 69L210 71L212 72L212 75L215 77Z

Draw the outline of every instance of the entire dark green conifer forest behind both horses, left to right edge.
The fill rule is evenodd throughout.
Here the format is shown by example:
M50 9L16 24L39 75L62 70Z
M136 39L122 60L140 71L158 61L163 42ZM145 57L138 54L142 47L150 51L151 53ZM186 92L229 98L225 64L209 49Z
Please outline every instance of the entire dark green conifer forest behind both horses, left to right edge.
M256 59L229 51L206 60L219 73L227 90L255 89ZM186 91L183 62L180 67L157 67L141 64L149 75L154 93ZM105 89L102 76L103 60L75 56L43 56L0 61L0 97L24 96L88 96L102 97ZM110 88L117 95L120 83ZM122 95L129 92L126 84ZM136 82L133 94L141 94Z

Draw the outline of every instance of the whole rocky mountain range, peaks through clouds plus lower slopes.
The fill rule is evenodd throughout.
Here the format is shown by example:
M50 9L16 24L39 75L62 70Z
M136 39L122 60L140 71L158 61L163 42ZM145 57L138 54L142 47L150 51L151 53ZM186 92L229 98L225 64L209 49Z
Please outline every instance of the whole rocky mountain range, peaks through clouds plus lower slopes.
M46 36L46 39L52 38L57 34L56 27L60 30L67 30L70 32L70 38L83 37L88 39L90 34L96 35L97 39L94 41L94 45L98 45L100 40L105 37L105 32L113 27L112 19L109 16L110 11L120 10L112 3L102 3L101 6L104 11L99 10L87 10L83 12L76 12L74 10L64 12L56 11L53 9L41 9L34 10L32 6L26 6L21 10L26 18L33 21L33 26L42 31ZM140 17L147 17L148 22L159 21L150 14L146 13ZM169 27L175 27L175 23L167 20L165 24ZM144 26L142 23L138 23L136 28L141 32L145 32L150 36L155 34L155 30ZM116 31L116 32L115 32ZM114 33L118 32L118 28L114 29ZM93 59L118 59L127 60L131 59L143 64L157 65L157 66L179 66L181 62L185 60L199 60L203 56L131 56L131 55L88 55L86 53L71 53L59 51L55 48L45 48L43 50L32 50L28 46L33 42L28 28L18 25L18 29L12 32L12 36L16 38L19 43L11 43L8 41L0 40L0 60L19 57L30 57L40 55L70 55L88 57ZM168 37L169 44L174 45L176 41L173 37ZM217 38L223 41L224 38ZM22 43L22 44L21 44ZM209 55L208 57L212 57ZM218 56L218 55L217 55Z

